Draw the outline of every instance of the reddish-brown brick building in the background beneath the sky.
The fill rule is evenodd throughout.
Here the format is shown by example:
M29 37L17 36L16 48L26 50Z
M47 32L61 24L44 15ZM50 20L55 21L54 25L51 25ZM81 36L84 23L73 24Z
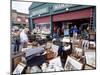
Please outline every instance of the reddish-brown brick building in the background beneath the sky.
M18 27L29 27L29 18L28 14L17 12L16 10L12 10L11 14L12 26Z

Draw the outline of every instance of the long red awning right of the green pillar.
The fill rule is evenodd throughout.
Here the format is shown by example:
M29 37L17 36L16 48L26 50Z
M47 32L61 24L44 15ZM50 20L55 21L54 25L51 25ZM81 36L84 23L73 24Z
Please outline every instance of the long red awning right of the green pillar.
M92 8L54 15L53 22L90 17L92 17Z

